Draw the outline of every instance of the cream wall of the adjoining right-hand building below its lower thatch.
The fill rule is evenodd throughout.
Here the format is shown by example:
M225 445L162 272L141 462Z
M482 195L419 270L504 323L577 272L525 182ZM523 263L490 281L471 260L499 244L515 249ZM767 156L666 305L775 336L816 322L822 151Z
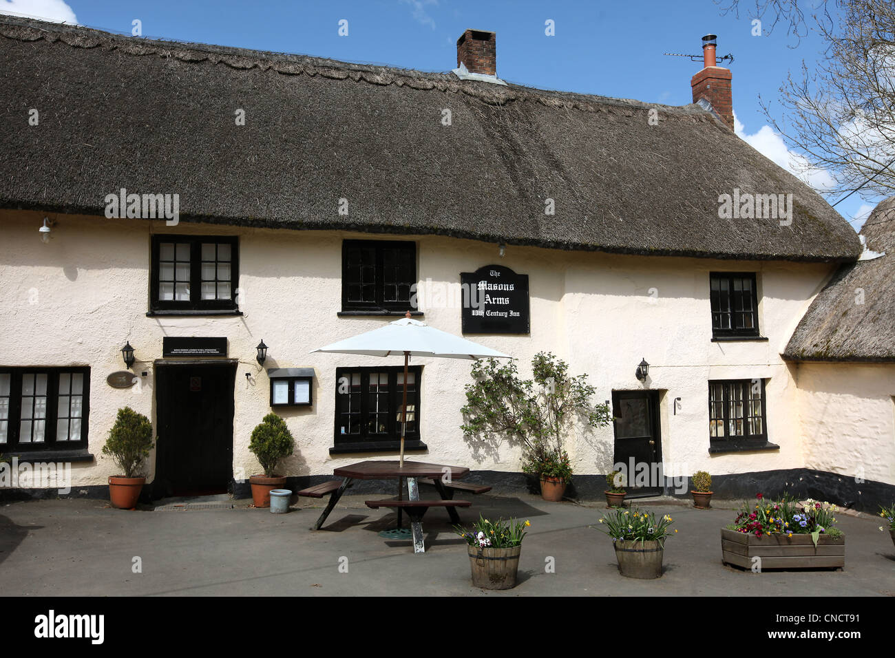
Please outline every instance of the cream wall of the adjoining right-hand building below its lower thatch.
M895 365L793 368L805 467L895 484Z

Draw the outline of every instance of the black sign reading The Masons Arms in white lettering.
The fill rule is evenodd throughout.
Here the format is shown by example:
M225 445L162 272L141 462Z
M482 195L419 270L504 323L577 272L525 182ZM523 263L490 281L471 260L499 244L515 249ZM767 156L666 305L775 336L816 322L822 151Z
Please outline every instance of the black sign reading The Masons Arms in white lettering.
M465 334L529 333L528 275L502 265L461 272Z

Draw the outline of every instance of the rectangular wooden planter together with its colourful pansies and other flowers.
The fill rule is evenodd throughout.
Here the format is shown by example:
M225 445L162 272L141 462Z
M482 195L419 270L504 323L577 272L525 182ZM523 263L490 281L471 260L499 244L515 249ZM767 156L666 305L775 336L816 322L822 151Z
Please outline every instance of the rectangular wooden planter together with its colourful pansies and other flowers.
M817 500L744 503L737 518L721 528L724 564L762 571L767 568L841 568L845 534L835 527L835 505Z

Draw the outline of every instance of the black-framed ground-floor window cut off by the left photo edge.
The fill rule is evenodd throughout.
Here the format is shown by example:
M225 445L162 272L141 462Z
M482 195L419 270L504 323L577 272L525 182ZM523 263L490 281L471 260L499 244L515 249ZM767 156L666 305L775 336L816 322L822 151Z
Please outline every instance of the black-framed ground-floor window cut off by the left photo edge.
M90 368L0 368L0 452L87 446Z

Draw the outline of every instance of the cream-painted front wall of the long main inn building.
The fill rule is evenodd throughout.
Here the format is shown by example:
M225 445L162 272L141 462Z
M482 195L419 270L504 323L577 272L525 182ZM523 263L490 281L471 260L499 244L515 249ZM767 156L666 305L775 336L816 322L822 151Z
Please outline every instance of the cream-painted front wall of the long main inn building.
M377 236L185 223L168 227L164 222L59 215L53 216L50 243L42 244L37 229L43 217L0 211L0 281L5 291L0 297L0 365L90 365L90 451L98 461L73 465L75 486L103 484L115 474L100 448L118 407L130 405L155 421L153 361L161 357L164 336L226 336L230 357L240 360L234 391L237 479L259 472L248 442L251 429L270 409L264 371L271 367L312 367L317 373L314 406L278 412L297 442L296 455L286 462L288 474L328 474L335 466L371 457L328 454L333 443L335 371L338 366L398 365L400 359L310 352L388 321L337 317L342 240ZM151 233L239 235L243 316L146 317ZM644 388L634 373L645 357L651 363L646 386L663 391L663 457L677 466L672 468L675 474L805 465L803 432L794 411L799 398L780 351L831 266L513 245L501 259L496 244L437 236L407 239L418 244L424 320L449 332L460 333L459 308L432 293L451 288L456 294L459 272L499 263L529 275L531 335L469 337L518 357L525 376L532 356L550 350L570 363L571 372L587 372L602 401L611 397L612 389ZM760 326L767 342L711 342L708 290L709 272L714 269L760 272ZM261 338L270 346L264 369L254 360ZM130 340L138 359L134 370L149 374L134 389L111 389L106 376L123 369L119 349L125 340ZM518 471L518 449L502 446L496 456L475 461L459 430L469 363L435 359L414 363L424 365L422 439L430 447L426 458ZM252 382L245 372L251 372ZM769 438L780 444L780 450L710 457L707 380L758 377L768 378ZM681 398L677 414L672 413L675 397ZM607 473L612 437L611 427L576 437L569 450L575 472Z

